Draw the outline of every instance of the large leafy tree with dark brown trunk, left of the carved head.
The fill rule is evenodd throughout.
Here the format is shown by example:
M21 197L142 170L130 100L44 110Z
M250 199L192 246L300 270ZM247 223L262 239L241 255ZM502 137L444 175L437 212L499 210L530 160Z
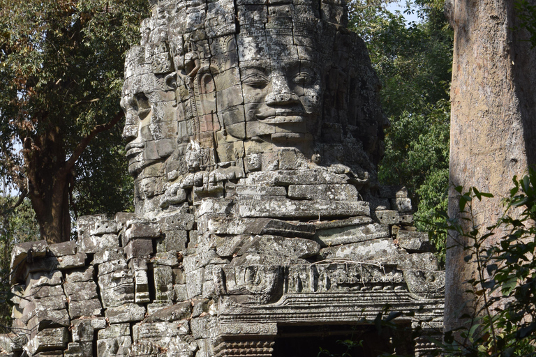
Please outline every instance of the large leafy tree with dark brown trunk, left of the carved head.
M80 213L131 201L114 193L128 179L110 129L148 11L147 0L0 0L0 174L29 197L47 241L68 239L74 200Z

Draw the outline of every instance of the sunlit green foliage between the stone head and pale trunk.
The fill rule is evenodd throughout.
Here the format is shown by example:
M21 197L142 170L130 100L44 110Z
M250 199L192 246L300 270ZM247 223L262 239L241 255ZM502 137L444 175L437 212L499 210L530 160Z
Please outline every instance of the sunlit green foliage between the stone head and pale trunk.
M405 185L412 197L417 228L432 231L438 258L444 261L445 235L433 231L436 209L447 208L449 168L449 84L453 33L443 15L444 1L417 0L405 23L381 2L350 3L350 28L364 38L382 82L382 108L391 127L385 130L380 183Z

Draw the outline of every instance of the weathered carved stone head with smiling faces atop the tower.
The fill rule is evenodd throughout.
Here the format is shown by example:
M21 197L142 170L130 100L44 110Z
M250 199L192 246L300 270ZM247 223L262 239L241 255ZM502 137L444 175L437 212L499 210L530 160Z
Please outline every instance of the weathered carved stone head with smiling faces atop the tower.
M121 100L137 212L172 209L177 187L217 190L255 171L343 164L375 181L378 79L333 8L343 6L155 6L127 54Z

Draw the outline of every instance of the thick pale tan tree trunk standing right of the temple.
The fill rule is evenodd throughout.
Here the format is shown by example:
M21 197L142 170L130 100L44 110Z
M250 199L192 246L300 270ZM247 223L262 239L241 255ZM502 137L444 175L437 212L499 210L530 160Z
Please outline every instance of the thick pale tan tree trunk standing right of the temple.
M532 0L531 3L536 3ZM500 200L536 155L536 52L512 0L447 0L445 11L454 27L450 182L464 190L474 186L495 198L473 202L476 223L493 225L504 208ZM459 199L449 190L449 216L459 217ZM500 234L497 234L500 236ZM445 330L461 326L459 308L471 297L465 283L475 274L467 252L447 238ZM497 244L490 238L489 244ZM461 241L460 243L468 244Z

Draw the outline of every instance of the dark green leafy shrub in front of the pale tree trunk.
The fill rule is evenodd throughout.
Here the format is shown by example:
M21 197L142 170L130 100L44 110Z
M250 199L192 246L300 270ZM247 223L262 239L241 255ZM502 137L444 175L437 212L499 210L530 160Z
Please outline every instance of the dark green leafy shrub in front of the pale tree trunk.
M456 232L465 261L476 267L466 291L472 312L461 316L466 325L437 342L447 356L536 356L535 169L521 179L514 176L513 183L506 213L493 227L477 227L472 210L475 199L493 196L461 187L456 188L461 219L470 228L456 220L441 227Z

